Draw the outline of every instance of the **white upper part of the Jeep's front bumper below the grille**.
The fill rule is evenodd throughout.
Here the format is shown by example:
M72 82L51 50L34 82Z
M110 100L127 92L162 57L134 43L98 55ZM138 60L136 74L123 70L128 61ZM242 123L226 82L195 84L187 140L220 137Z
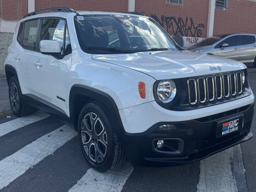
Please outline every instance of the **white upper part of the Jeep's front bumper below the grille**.
M124 129L128 133L145 132L158 122L177 122L211 116L254 102L254 95L227 103L188 111L171 111L160 107L156 101L119 111Z

